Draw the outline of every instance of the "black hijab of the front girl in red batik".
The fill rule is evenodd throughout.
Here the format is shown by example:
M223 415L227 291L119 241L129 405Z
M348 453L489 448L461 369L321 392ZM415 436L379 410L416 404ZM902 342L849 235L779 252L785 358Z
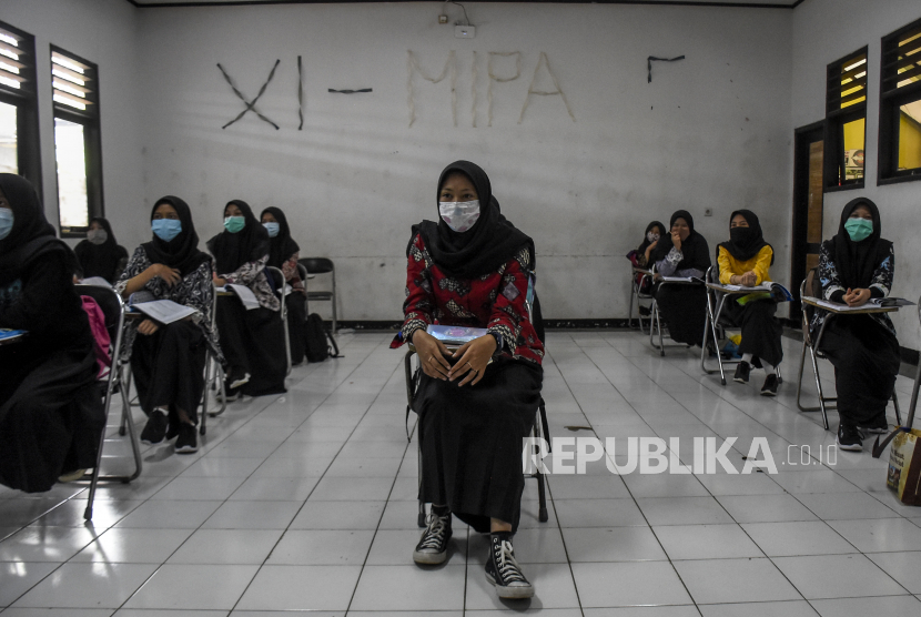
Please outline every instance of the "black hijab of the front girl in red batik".
M515 227L499 210L493 196L489 176L469 161L455 161L442 171L435 194L437 209L442 185L452 173L463 173L470 179L479 199L479 219L469 230L458 233L452 230L438 213L438 222L423 221L413 225L413 237L422 234L426 249L438 267L455 279L473 279L490 272L514 257L523 247L530 254L530 267L535 267L534 241ZM413 246L412 239L406 254Z

